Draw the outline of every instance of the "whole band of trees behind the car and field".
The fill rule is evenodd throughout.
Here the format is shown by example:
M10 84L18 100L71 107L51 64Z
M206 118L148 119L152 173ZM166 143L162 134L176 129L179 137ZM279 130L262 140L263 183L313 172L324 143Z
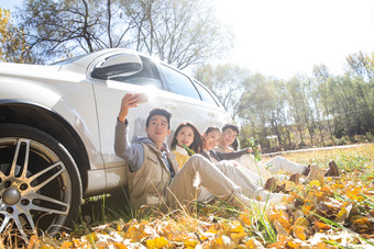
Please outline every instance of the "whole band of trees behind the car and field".
M204 0L25 0L0 9L0 60L44 64L124 47L188 70L264 152L373 142L374 53L346 55L342 75L315 65L312 75L278 79L217 64L234 35Z

